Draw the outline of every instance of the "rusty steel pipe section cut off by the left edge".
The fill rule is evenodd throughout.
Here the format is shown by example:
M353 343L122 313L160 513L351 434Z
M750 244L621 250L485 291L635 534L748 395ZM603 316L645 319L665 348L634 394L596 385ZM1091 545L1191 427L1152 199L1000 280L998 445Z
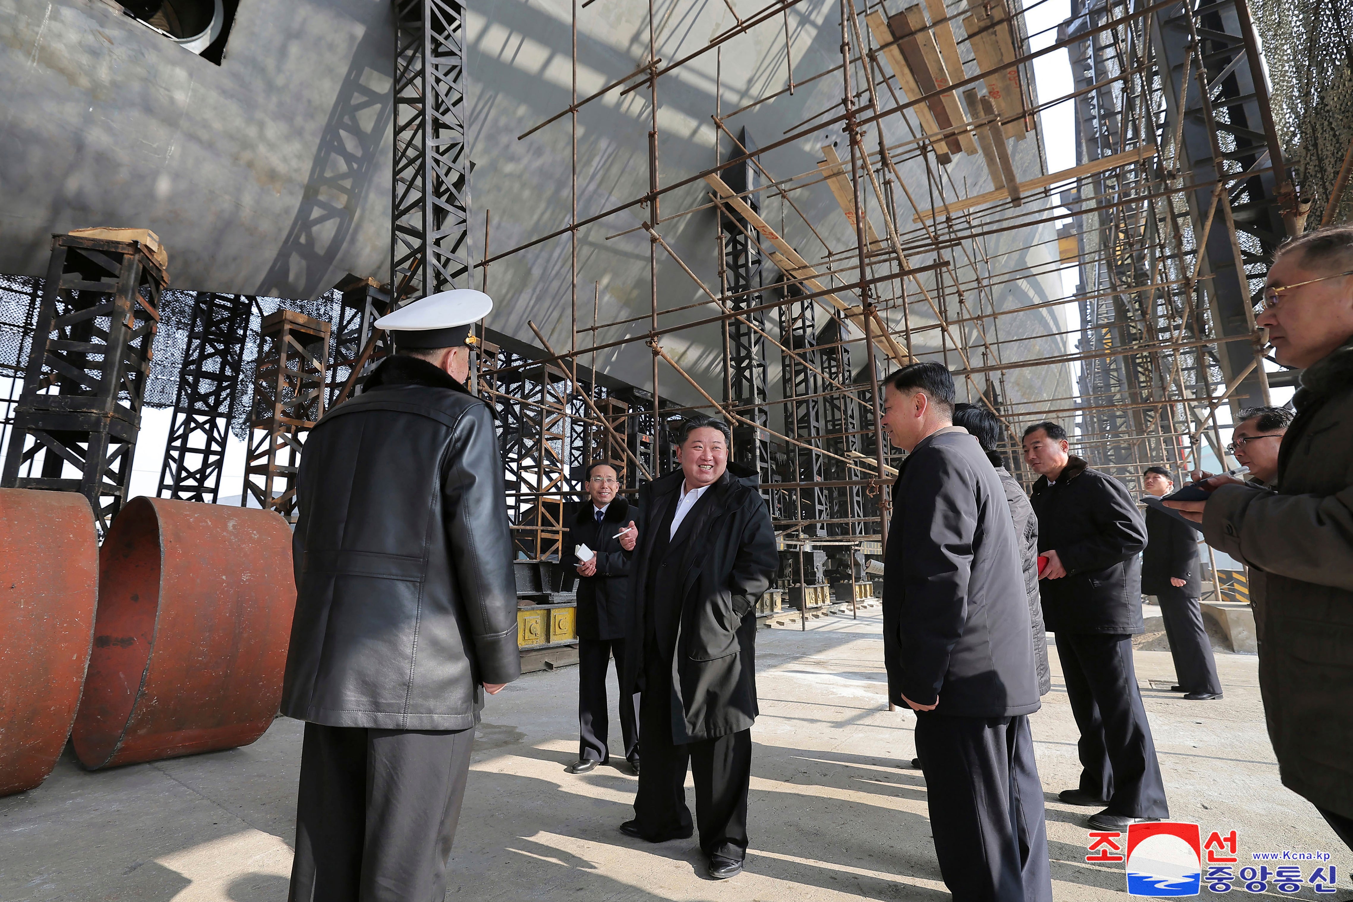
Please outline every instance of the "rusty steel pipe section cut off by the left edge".
M66 745L97 596L85 496L0 488L0 795L47 779Z

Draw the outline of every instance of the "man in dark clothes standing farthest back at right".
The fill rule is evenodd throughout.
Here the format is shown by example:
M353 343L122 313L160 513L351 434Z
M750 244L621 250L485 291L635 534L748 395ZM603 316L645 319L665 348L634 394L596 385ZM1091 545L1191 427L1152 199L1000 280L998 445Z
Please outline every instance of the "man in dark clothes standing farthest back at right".
M1164 467L1147 467L1142 476L1147 495L1169 495L1174 480ZM1178 686L1170 688L1187 692L1191 702L1222 698L1222 680L1216 676L1212 644L1203 626L1199 598L1197 530L1174 517L1146 508L1146 550L1142 552L1142 591L1161 603L1165 636L1170 641L1174 675Z

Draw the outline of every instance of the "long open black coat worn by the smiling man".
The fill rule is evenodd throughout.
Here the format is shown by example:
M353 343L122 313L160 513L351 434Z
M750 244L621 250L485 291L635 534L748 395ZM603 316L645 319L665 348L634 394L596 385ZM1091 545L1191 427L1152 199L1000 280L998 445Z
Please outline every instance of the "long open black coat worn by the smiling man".
M639 507L647 527L639 536L630 567L635 615L625 638L621 696L640 688L648 629L644 592L649 567L660 563L652 554L655 530L681 499L683 480L685 475L676 471L639 490ZM685 721L685 736L674 723L675 742L746 730L759 714L756 600L770 588L779 569L775 530L766 502L756 491L754 472L729 464L686 517L694 522L676 568L682 580L682 610L671 661L672 691L678 696L672 699L672 718Z

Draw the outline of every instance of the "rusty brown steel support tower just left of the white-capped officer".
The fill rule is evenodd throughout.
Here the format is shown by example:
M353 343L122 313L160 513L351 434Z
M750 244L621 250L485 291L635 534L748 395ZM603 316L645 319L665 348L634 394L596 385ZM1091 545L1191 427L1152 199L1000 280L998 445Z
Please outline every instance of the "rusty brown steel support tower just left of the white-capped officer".
M294 310L264 318L241 507L257 506L296 521L300 452L306 434L325 415L330 329L330 323Z

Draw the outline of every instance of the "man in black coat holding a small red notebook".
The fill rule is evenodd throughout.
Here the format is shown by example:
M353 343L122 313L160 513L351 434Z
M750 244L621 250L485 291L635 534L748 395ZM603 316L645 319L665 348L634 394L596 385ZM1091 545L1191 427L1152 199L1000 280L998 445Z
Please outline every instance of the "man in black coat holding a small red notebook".
M1068 805L1103 806L1096 830L1169 817L1151 725L1132 663L1142 622L1146 523L1127 487L1068 453L1066 430L1024 430L1024 460L1040 473L1030 502L1047 557L1039 590L1057 638L1066 699L1080 728L1081 780Z

